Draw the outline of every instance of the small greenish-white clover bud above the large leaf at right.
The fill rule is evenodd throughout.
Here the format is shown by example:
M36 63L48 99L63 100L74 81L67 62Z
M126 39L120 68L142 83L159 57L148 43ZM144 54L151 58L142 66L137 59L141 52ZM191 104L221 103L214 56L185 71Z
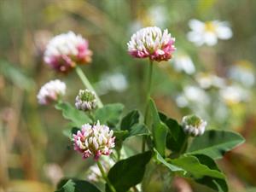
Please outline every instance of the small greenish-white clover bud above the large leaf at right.
M184 116L182 119L183 131L190 136L197 137L201 136L207 126L207 121L204 121L195 114Z

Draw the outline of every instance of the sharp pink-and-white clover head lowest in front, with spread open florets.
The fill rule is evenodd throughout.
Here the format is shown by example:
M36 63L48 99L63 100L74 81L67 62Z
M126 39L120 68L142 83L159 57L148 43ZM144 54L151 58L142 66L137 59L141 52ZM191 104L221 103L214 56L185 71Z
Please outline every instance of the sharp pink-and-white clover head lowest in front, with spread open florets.
M96 125L84 124L81 131L73 134L74 150L83 154L84 159L92 155L95 160L98 160L102 154L112 153L114 139L113 131L109 130L107 125L100 125L99 121Z

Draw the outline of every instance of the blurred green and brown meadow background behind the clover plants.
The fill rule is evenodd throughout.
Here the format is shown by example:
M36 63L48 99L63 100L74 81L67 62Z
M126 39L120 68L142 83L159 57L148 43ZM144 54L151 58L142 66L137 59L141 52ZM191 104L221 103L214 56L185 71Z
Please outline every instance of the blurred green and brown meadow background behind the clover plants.
M187 38L191 19L228 21L233 36L195 46ZM247 142L218 165L230 191L255 192L255 20L254 0L0 1L0 191L54 191L61 177L86 179L93 163L68 148L61 113L38 105L38 90L50 79L67 83L71 103L83 88L75 73L56 74L44 64L49 39L68 31L87 38L94 54L84 73L104 103L123 102L127 112L143 109L148 63L131 58L126 43L141 27L159 26L176 38L177 51L172 61L154 65L158 108L178 121L197 113L209 129L239 131ZM157 173L148 186L154 192L211 191L182 178L173 190L163 189Z

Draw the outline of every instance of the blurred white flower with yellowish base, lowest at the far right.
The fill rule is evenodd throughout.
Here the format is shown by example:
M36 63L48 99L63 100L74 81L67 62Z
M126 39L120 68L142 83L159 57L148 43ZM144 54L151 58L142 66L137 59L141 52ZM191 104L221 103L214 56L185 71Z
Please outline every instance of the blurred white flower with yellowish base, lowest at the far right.
M219 90L219 95L227 105L247 102L249 99L248 91L237 85L230 85L222 90Z

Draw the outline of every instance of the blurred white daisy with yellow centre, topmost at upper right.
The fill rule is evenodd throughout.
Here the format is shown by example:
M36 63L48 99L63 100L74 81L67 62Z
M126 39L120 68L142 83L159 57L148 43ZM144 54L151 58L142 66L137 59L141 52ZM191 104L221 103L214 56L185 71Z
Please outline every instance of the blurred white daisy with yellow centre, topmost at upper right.
M194 19L189 20L189 26L192 31L188 33L188 39L197 46L203 44L213 46L218 43L218 38L229 39L233 35L229 23L226 21L202 22Z

